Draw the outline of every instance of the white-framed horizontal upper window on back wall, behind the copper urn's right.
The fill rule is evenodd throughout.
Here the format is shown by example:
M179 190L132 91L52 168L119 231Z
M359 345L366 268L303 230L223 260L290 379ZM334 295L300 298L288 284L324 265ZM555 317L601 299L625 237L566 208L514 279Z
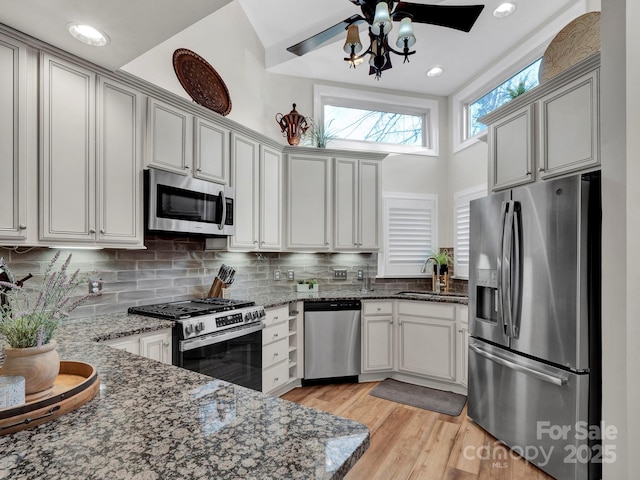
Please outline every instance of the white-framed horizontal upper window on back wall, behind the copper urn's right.
M329 147L438 155L438 102L316 85L314 123Z

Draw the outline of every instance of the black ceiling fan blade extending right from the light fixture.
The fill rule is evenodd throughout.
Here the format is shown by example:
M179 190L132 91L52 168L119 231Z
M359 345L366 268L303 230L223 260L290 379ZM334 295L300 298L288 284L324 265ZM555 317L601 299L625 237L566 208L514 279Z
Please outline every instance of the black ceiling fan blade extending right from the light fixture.
M398 2L391 17L402 20L411 17L416 23L428 23L468 32L476 23L484 5L422 5Z

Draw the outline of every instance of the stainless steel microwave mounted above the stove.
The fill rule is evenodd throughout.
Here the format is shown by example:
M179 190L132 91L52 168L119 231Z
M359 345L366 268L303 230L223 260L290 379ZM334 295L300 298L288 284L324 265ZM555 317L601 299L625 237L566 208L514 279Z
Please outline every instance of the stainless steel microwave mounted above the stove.
M145 195L149 231L235 233L233 187L149 168Z

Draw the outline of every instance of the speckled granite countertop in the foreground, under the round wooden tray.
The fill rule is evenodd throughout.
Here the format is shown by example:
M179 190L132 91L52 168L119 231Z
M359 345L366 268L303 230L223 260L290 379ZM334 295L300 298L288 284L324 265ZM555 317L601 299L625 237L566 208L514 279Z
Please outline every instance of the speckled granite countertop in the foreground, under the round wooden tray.
M96 397L0 437L0 479L338 479L366 426L96 343L171 326L115 314L66 321L62 360L93 365Z

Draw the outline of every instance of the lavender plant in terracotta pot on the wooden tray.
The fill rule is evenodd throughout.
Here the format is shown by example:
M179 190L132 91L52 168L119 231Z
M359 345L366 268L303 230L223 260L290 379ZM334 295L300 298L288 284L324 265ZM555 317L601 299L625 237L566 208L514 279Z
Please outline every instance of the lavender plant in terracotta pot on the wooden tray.
M49 262L42 287L31 295L16 281L11 269L0 259L0 337L4 348L3 375L25 377L26 400L34 401L51 395L53 382L60 369L57 344L52 340L60 319L84 302L91 294L72 300L81 282L79 271L69 275L71 254L58 271L52 271L60 252Z

